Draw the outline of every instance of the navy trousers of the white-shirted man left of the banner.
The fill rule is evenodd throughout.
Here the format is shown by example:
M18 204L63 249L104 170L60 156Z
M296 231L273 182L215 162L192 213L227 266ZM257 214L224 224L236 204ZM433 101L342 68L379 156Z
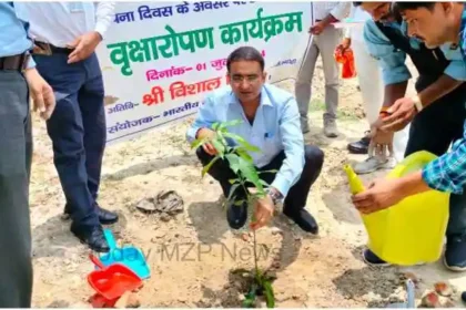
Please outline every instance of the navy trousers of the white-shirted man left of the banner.
M104 87L93 53L68 64L68 54L34 55L41 75L52 86L57 106L47 123L54 165L74 226L98 226L97 197L107 140Z

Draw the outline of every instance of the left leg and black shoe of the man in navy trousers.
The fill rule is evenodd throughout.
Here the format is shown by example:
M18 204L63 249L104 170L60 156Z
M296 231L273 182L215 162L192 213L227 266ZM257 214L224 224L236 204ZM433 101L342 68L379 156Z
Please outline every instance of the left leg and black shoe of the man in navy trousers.
M83 62L68 64L65 54L34 59L57 99L47 130L53 144L53 162L71 213L71 231L93 250L108 251L109 246L88 188L84 127L78 103L78 93L87 80Z

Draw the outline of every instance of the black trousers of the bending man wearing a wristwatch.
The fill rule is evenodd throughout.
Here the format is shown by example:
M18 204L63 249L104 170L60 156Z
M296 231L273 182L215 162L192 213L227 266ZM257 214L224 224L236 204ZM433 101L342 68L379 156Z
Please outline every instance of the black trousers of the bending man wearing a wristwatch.
M433 79L418 80L416 89L423 90ZM418 151L428 151L437 156L448 152L452 143L463 137L466 120L466 85L432 103L417 114L409 128L405 157ZM466 190L450 195L447 236L466 232Z

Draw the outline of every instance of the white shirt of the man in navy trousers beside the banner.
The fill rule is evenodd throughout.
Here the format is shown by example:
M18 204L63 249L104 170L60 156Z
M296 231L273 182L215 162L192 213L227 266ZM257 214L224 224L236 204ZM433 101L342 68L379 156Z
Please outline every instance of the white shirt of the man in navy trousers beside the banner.
M97 31L104 38L114 19L114 2L16 2L28 10L30 37L65 48L78 37Z

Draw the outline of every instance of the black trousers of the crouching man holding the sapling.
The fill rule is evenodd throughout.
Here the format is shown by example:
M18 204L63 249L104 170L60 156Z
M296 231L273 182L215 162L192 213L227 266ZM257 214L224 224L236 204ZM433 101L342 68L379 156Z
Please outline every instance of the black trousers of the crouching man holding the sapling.
M300 179L290 188L290 192L286 195L283 205L283 210L288 214L296 213L306 206L306 200L311 190L311 186L314 184L314 182L321 174L322 166L324 163L324 153L318 147L313 145L305 145L304 151L305 164L303 173L301 174ZM206 154L202 147L197 148L196 155L203 166L206 166L214 157ZM257 170L278 170L285 158L285 152L282 151L281 153L278 153L278 155L275 156L275 158L272 159L272 162L269 165L257 168ZM209 174L220 183L220 185L222 186L223 195L227 197L230 195L230 188L232 186L229 180L232 178L236 178L236 175L230 168L229 164L223 159L219 159L212 165L212 167L209 170ZM263 173L261 174L261 178L264 179L266 183L271 184L275 178L275 173ZM240 197L244 195L244 193L242 193L242 189L239 188L235 195L236 197Z

